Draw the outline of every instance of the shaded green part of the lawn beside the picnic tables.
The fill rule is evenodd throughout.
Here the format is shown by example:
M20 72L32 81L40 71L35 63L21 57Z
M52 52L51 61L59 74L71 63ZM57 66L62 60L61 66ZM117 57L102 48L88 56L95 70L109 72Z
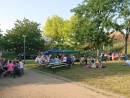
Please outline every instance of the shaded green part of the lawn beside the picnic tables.
M123 66L123 62L103 63L106 68L87 69L79 64L75 64L71 69L66 67L56 68L55 70L48 67L33 67L33 69L43 72L62 76L71 80L81 81L90 78L103 78L106 76L124 76L130 74L130 66Z

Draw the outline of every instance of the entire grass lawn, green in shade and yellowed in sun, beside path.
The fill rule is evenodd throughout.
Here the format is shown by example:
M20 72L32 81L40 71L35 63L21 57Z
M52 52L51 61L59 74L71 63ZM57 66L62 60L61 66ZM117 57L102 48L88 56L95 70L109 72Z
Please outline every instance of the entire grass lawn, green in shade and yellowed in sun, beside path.
M53 71L47 67L37 67L34 61L26 61L26 67L130 97L130 66L123 66L123 61L104 62L103 65L106 68L87 69L75 64L71 69L57 68Z

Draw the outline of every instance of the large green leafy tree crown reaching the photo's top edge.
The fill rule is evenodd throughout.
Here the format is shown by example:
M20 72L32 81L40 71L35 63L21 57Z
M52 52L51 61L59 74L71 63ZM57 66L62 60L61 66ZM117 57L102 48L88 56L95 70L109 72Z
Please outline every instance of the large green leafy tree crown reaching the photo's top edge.
M78 17L76 37L82 42L101 48L112 42L108 36L113 28L117 13L124 9L124 2L128 0L84 0L71 11ZM77 36L80 35L80 36Z

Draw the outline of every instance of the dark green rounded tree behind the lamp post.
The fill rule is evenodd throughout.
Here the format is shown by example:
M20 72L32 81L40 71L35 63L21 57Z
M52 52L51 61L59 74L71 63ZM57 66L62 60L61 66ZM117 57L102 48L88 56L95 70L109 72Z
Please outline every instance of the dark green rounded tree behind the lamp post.
M3 44L6 50L14 50L17 53L23 53L24 38L26 35L26 53L31 54L38 51L43 51L44 40L42 39L41 31L37 22L29 21L24 18L22 21L17 20L14 23L14 28L7 30L4 36Z

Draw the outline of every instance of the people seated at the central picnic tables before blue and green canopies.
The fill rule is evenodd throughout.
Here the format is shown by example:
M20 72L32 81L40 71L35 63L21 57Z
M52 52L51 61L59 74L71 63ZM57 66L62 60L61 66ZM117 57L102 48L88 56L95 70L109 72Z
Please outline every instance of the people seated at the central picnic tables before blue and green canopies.
M37 62L38 66L42 66L44 64L62 64L62 63L68 63L68 64L74 64L75 56L74 55L67 55L62 54L61 56L52 56L52 54L46 54L43 56L36 57L35 61Z

